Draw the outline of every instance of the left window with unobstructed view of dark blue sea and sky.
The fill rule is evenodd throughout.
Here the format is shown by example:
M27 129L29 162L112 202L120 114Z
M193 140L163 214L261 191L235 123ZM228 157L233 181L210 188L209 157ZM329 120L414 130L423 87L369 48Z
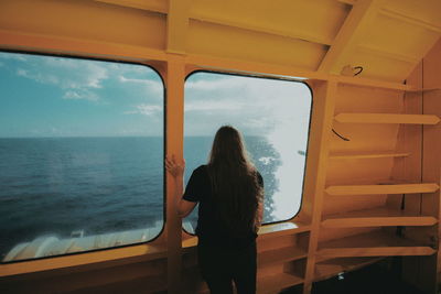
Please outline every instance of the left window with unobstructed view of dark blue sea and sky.
M0 52L3 262L146 242L163 227L161 77Z

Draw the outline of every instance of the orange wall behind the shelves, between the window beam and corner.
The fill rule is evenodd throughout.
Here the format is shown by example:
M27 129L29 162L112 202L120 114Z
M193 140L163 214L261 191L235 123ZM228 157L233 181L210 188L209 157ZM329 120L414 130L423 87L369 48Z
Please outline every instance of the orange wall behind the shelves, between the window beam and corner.
M400 113L402 94L380 88L340 85L335 102L335 116L343 112ZM331 137L331 154L394 152L399 127L397 124L340 123L334 121L335 133ZM394 166L392 157L380 159L329 159L326 186L359 185L387 182ZM386 205L386 195L325 195L323 217L338 213L362 210ZM347 237L373 230L372 228L321 230L320 240Z

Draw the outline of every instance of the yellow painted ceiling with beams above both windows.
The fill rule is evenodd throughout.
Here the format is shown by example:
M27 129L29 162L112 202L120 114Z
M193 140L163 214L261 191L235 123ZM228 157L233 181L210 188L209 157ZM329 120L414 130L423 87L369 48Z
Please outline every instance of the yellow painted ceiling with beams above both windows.
M441 35L440 0L1 0L0 30L402 81Z

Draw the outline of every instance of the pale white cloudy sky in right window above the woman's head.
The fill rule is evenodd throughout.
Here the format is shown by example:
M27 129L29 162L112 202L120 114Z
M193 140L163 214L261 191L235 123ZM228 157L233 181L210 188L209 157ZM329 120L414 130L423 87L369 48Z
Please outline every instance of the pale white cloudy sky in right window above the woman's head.
M308 124L308 87L293 81L197 74L185 84L186 133L201 134L201 121L223 121L248 134L270 135L281 126L295 134ZM305 112L306 115L304 115ZM205 124L205 134L212 130ZM284 127L283 127L284 128Z

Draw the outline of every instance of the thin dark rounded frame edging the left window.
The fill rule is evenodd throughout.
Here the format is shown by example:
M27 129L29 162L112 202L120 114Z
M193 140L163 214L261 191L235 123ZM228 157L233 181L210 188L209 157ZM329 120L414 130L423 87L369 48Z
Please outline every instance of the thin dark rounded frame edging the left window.
M148 240L148 241L142 241L142 242L136 242L136 243L130 243L130 244L121 244L121 246L114 246L114 247L108 247L108 248L98 248L98 249L93 249L93 250L85 250L85 251L77 251L77 252L69 252L69 253L64 253L64 254L57 254L57 255L47 255L47 257L40 257L40 258L30 258L30 259L20 259L20 260L11 260L11 261L3 261L0 260L0 266L2 265L13 265L13 264L20 264L20 263L25 263L25 262L41 262L44 260L49 259L65 259L68 257L75 257L75 255L86 255L90 253L105 253L104 251L108 250L123 250L127 248L135 248L135 247L140 247L142 246L143 250L146 250L144 246L148 246L148 249L152 251L161 251L157 247L152 246L151 243L158 239L160 239L165 231L166 227L166 171L165 171L165 152L166 152L166 83L161 74L161 70L157 67L158 64L152 61L151 63L142 63L142 62L136 62L136 61L127 61L127 59L117 59L117 58L108 58L108 57L96 57L96 56L82 56L82 55L73 55L73 54L62 54L62 53L55 53L55 52L40 52L40 51L29 51L29 50L9 50L9 48L0 48L0 53L14 53L14 54L28 54L28 55L33 55L33 56L45 56L45 57L58 57L58 58L71 58L71 59L82 59L82 61L94 61L94 62L107 62L107 63L114 63L114 64L132 64L132 65L141 65L150 68L153 70L160 78L161 84L162 84L162 107L163 107L163 112L162 112L162 228L158 232L158 235ZM87 257L85 257L87 260ZM106 261L109 260L108 258ZM89 264L92 262L87 262ZM53 268L51 268L53 269ZM0 277L2 274L0 274Z

